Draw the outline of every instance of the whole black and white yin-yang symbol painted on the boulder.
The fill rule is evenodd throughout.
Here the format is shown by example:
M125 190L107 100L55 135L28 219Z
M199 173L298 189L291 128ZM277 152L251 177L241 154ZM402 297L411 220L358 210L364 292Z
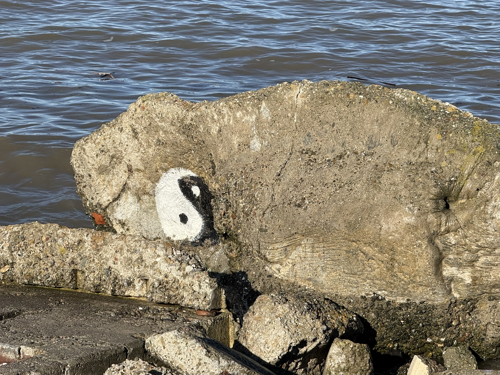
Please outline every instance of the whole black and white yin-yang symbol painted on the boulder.
M166 236L218 240L213 228L212 194L198 175L188 169L172 168L163 173L154 190L156 210Z

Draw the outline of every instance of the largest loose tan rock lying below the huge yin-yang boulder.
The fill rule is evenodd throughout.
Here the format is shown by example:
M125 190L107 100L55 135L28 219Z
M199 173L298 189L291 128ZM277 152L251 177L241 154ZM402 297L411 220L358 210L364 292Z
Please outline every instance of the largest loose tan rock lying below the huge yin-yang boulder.
M301 298L263 294L244 315L237 339L241 351L277 372L321 374L331 340L360 333L362 324L355 314L334 303L324 301L320 308Z

